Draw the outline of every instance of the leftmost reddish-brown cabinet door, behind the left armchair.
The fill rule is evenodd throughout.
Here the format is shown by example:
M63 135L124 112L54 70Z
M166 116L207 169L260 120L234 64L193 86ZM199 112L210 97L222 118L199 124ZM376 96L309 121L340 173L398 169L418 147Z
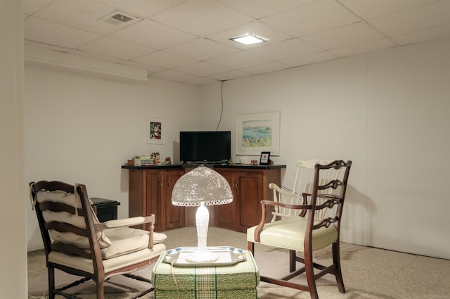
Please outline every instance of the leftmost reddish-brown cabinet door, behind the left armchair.
M161 205L162 172L159 170L146 171L146 201L145 215L155 214L155 231L164 231L164 214ZM142 216L142 215L141 215Z

